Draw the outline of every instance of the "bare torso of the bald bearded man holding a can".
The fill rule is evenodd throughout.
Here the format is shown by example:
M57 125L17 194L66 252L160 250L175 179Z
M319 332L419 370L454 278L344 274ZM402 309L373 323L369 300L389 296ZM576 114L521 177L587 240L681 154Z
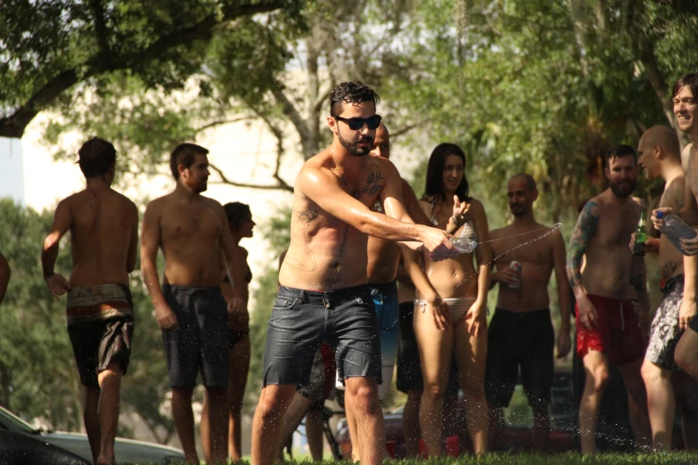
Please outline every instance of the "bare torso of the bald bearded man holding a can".
M491 240L497 240L492 242L497 269L509 267L513 261L521 263L519 287L513 289L505 282L499 282L497 306L511 312L533 312L550 306L547 286L554 270L554 241L559 240L561 234L554 231L526 244L544 234L545 227L538 223L523 228L510 224L491 232ZM509 238L517 234L523 235Z

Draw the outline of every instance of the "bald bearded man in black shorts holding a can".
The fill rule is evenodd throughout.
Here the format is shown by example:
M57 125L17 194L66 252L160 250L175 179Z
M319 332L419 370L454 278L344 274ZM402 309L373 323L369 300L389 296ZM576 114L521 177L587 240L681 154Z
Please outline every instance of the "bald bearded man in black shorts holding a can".
M507 185L513 224L490 232L497 272L491 283L499 284L497 310L489 323L489 350L485 389L489 405L489 436L497 435L502 408L512 400L519 367L523 388L533 411L533 447L547 449L550 433L550 391L553 387L555 337L550 319L547 285L554 272L557 282L560 332L557 358L570 352L570 284L565 273L563 234L553 231L525 247L514 249L545 232L536 222L533 202L538 199L536 181L530 175L514 175ZM514 236L514 237L512 237ZM497 241L499 240L499 241ZM514 249L510 252L507 250ZM510 266L518 262L520 273Z

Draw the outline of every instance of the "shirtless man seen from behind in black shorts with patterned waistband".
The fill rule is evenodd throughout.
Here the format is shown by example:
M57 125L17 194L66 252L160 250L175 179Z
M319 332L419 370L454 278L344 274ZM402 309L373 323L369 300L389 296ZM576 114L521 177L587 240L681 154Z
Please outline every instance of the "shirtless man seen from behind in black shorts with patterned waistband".
M85 429L95 464L116 463L119 389L131 355L134 313L128 273L135 267L138 210L111 189L116 150L94 137L79 166L86 189L61 200L44 241L41 264L53 297L68 293L68 334L85 387ZM58 244L70 231L70 280L53 273Z

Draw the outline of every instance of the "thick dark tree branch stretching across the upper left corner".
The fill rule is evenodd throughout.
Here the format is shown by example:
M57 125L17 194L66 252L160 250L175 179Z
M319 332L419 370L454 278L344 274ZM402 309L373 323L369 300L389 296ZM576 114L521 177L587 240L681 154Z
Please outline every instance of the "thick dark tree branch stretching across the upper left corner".
M260 12L272 12L282 6L283 3L279 0L270 0L260 4L226 6L223 8L223 20L221 22L235 20L242 16ZM109 61L103 61L103 56L100 52L76 68L62 70L56 76L50 78L44 86L38 89L27 102L22 104L17 110L14 110L11 115L0 118L0 136L20 138L39 111L45 110L59 95L79 81L105 72L119 69L137 69L147 66L149 62L160 59L168 50L172 50L179 45L190 46L194 41L201 40L208 42L213 35L213 29L218 24L217 15L210 14L190 28L177 29L160 37L160 39L143 50L114 56Z

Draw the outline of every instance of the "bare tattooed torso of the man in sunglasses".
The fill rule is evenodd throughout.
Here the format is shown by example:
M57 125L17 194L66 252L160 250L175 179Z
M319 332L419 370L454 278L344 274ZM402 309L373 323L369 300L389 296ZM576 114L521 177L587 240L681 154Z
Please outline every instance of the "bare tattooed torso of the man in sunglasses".
M309 159L306 165L337 176L345 192L366 207L374 208L386 182L384 170L387 163L380 157L370 157L364 171L349 174L334 165L331 152L327 149ZM380 250L374 253L392 257L391 247L381 247L377 242L374 242L375 245ZM291 216L291 244L279 272L279 282L283 286L304 290L338 290L365 284L367 249L368 236L365 233L330 215L296 187ZM390 269L397 269L397 256L390 266L384 266L382 259L374 261L374 265L375 275L384 279L391 273ZM394 279L395 272L392 273Z

